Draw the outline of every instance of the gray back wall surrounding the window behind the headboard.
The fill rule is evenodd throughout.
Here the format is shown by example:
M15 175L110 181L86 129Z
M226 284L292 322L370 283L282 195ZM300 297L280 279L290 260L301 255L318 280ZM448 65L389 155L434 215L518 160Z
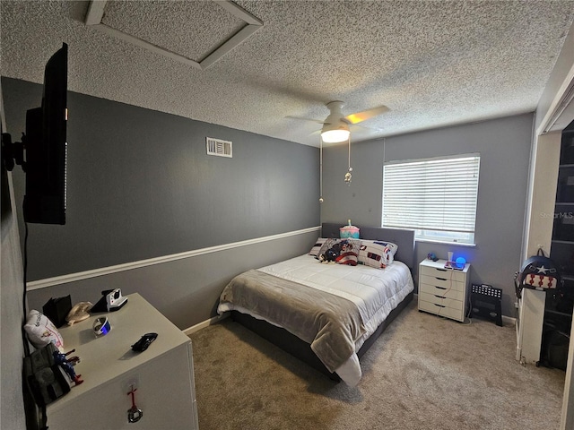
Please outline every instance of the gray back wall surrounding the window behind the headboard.
M471 280L503 289L502 313L516 316L514 272L521 264L528 163L533 115L510 116L458 125L385 141L352 144L352 185L344 184L347 148L324 150L323 222L352 219L357 225L380 226L383 159L424 159L479 152L481 170L474 247L417 242L422 261L430 252L448 251L472 263ZM384 144L385 142L385 144Z

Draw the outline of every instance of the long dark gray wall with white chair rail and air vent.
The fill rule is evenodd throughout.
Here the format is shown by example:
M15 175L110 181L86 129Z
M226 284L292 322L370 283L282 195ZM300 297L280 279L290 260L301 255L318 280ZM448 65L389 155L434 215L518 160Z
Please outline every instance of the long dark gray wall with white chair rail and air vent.
M3 78L2 87L17 138L41 86ZM30 281L319 225L317 148L74 92L68 110L66 224L30 224ZM233 158L207 156L206 136L232 141ZM19 207L23 187L15 168ZM94 302L120 287L187 328L213 316L232 275L303 254L316 238L314 231L34 290L30 306L65 294Z

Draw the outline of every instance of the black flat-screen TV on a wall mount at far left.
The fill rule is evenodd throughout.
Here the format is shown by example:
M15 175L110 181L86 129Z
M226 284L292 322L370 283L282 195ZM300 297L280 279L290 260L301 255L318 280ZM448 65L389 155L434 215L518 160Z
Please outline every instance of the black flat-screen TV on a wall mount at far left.
M67 69L64 43L46 64L41 107L27 111L22 142L13 143L10 134L2 134L4 165L12 170L15 161L26 172L26 222L65 224Z

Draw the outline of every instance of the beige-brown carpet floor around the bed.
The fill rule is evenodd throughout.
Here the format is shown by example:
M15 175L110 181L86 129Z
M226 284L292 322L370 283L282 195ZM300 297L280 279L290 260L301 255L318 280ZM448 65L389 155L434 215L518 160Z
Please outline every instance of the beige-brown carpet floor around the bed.
M229 318L190 335L201 430L560 426L565 373L521 366L514 326L457 323L416 300L335 383Z

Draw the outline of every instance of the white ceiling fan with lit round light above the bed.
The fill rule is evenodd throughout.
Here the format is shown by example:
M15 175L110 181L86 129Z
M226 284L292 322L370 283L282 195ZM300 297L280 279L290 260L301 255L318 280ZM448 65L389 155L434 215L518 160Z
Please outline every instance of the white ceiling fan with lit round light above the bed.
M352 125L357 125L367 119L384 114L388 111L388 107L379 106L344 116L344 102L340 100L329 101L326 103L326 107L329 109L330 113L329 116L325 118L325 121L297 118L307 119L308 121L314 121L322 124L323 128L321 129L321 139L326 143L344 142L348 140L351 133L350 127Z

